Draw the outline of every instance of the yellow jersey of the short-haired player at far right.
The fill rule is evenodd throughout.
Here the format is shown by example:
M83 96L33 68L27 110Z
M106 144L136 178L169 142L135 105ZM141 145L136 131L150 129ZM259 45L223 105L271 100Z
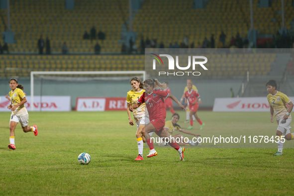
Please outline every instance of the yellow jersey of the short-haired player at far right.
M291 100L284 93L278 92L276 95L269 94L268 101L275 111L275 116L277 120L280 120L286 114L288 107L286 103L289 103ZM292 119L291 114L289 118Z

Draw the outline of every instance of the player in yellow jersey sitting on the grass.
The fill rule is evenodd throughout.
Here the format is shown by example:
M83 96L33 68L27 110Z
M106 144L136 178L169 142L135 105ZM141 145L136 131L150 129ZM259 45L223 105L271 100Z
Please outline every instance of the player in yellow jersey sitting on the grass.
M177 122L179 121L180 119L180 115L178 113L174 113L173 116L172 116L172 120L168 120L165 122L165 125L164 125L164 129L165 131L168 133L168 135L172 135L174 132L176 131L180 131L182 133L186 133L186 134L189 134L189 135L194 135L196 137L199 137L201 135L198 135L198 134L195 134L195 133L192 133L190 131L187 131L187 130L184 130L181 128L181 126L179 124L177 124ZM183 140L184 141L184 138L180 133L176 134L176 135L172 135L173 138L180 138L180 141ZM177 140L175 140L177 141ZM177 142L178 145L192 145L192 146L198 146L199 143L198 142L193 142L192 140L188 140L187 143L184 142ZM163 146L164 145L164 140L162 143L159 143L158 145L160 146Z

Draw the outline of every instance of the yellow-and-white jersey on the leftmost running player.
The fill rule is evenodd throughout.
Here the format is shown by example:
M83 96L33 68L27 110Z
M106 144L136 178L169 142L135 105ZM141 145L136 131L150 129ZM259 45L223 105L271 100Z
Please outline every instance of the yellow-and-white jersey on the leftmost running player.
M9 97L12 102L12 106L14 106L20 103L23 100L23 98L25 98L25 95L21 89L16 88L14 92L9 92ZM24 104L22 104L19 105L14 111L12 111L12 114L15 114L16 116L24 116L28 113Z

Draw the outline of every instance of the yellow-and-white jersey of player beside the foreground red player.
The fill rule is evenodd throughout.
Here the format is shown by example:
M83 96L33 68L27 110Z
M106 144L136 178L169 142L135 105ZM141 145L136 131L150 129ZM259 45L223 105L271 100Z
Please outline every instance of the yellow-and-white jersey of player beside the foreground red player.
M136 92L134 90L131 90L127 92L126 96L126 102L128 102L130 105L134 105L137 103L138 99L142 96L142 94L145 92L145 90L141 90L139 92ZM141 118L141 117L149 117L148 111L145 107L145 103L141 104L138 108L135 108L133 110L133 116L135 118Z

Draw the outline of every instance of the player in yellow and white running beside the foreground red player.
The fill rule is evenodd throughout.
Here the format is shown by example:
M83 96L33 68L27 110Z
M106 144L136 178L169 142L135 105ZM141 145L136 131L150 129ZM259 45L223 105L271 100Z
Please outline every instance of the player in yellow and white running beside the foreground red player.
M131 115L130 115L131 112L129 110L129 107L130 105L134 105L137 103L138 99L142 96L145 90L143 89L144 87L143 83L137 77L131 78L130 84L133 89L127 93L126 102L127 102L127 113L129 118L129 124L133 126L134 122L133 122L133 119L131 118ZM140 161L140 160L143 160L143 142L145 142L145 137L142 134L142 132L144 132L145 124L148 124L150 122L148 111L145 107L145 103L141 104L138 108L133 110L133 117L137 125L136 137L137 137L138 152L139 152L139 155L135 160Z

